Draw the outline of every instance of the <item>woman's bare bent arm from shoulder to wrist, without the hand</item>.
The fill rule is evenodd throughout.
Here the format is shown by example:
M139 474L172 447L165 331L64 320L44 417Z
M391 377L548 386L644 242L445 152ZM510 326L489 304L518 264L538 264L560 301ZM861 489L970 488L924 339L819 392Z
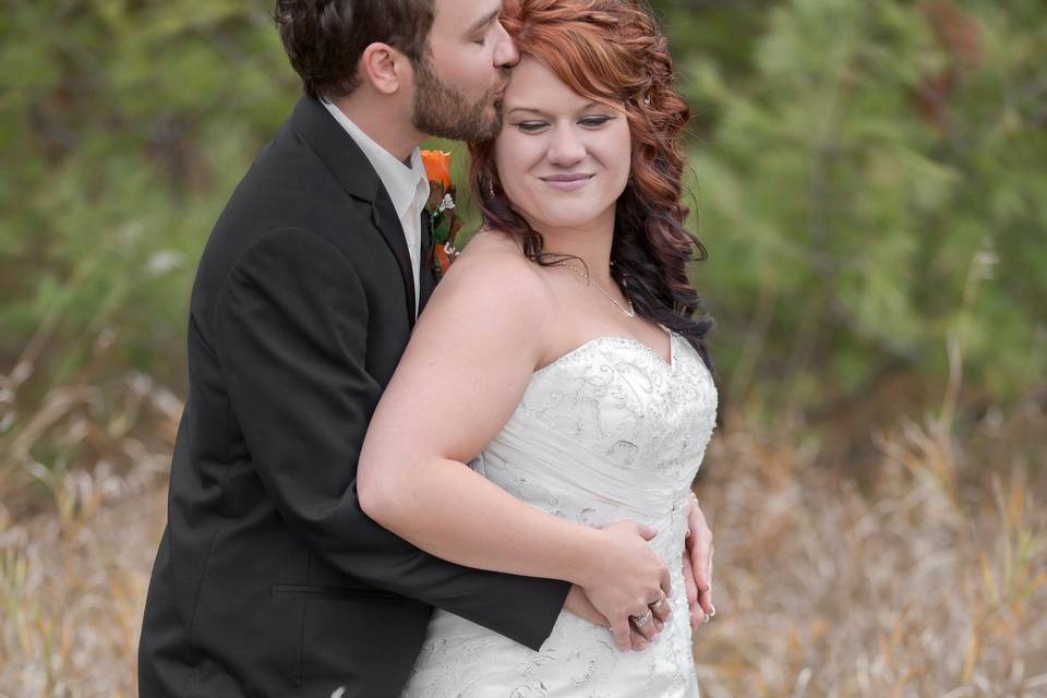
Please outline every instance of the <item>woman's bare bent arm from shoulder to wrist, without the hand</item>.
M483 246L441 282L375 410L360 503L438 557L588 587L605 547L600 531L531 507L466 466L519 404L551 303L529 263Z

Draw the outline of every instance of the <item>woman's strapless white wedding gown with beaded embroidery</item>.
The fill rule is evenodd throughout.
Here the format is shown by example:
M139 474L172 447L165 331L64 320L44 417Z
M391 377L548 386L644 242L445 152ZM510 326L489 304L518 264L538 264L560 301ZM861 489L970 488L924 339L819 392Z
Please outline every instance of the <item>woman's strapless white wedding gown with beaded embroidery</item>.
M681 553L717 389L683 336L671 335L670 346L671 363L622 337L561 357L533 374L505 428L470 464L556 516L655 526L650 545L673 586L673 615L659 642L622 652L610 630L563 611L535 652L437 609L405 698L697 698Z

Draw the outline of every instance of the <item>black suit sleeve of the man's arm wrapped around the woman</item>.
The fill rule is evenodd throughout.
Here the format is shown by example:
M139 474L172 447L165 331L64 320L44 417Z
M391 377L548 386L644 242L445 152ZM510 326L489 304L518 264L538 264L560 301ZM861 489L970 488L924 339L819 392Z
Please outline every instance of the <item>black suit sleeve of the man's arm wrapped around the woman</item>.
M377 318L341 252L305 230L265 233L234 264L213 320L233 413L287 524L351 577L539 649L569 582L434 557L360 508L357 462L382 394L365 371Z

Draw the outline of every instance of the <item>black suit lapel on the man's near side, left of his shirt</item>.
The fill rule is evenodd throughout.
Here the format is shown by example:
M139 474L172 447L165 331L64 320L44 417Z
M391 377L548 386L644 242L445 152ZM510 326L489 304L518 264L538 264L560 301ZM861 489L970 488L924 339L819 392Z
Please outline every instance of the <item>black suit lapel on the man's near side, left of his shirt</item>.
M368 156L345 129L338 125L327 108L312 97L302 97L291 117L296 132L304 139L349 195L371 204L371 222L396 258L407 296L407 315L414 326L414 273L407 250L404 228L393 201L374 171ZM423 230L425 230L423 228ZM422 236L425 237L424 234Z

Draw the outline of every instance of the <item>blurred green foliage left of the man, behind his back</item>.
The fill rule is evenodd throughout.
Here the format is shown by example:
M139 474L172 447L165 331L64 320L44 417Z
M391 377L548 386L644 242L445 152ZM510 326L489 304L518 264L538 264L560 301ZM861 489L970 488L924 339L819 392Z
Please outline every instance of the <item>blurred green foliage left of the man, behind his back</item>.
M99 339L111 370L182 384L200 251L298 89L267 11L244 0L4 8L0 360L4 372L24 360L16 373L33 378L21 390L70 380Z

